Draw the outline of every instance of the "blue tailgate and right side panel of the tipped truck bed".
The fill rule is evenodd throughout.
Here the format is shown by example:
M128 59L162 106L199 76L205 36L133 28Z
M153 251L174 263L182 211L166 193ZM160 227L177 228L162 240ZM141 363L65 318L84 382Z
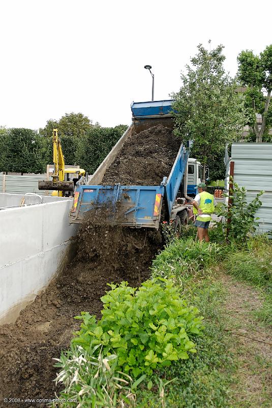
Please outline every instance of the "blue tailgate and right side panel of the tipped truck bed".
M131 227L150 227L158 230L162 198L170 217L173 203L182 182L189 150L182 145L172 170L160 186L91 186L77 187L70 213L70 222L82 222L89 210L109 209L108 222Z

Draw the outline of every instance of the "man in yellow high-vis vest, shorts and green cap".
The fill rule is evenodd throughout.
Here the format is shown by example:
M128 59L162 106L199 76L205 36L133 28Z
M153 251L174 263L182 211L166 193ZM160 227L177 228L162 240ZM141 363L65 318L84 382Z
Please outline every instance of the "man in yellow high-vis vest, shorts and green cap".
M205 183L200 183L195 188L197 188L198 194L193 200L193 213L197 216L195 221L197 236L199 241L204 239L206 242L209 242L208 226L217 202L214 196L206 191Z

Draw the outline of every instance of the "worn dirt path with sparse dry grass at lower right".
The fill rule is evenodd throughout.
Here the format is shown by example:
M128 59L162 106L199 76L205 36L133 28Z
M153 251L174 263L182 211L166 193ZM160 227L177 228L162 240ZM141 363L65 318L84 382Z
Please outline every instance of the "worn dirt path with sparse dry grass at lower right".
M228 291L226 329L236 355L236 381L232 386L233 406L268 408L272 401L272 330L261 325L253 312L261 307L260 293L229 275L221 277Z

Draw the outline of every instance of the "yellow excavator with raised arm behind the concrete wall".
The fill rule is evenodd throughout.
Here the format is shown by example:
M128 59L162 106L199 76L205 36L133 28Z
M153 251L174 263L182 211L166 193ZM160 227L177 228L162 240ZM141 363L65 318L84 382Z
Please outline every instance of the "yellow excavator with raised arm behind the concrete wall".
M53 180L40 180L39 190L53 190L51 195L65 197L73 195L76 183L85 184L85 170L76 167L65 168L64 154L61 139L57 135L57 129L53 129ZM70 180L70 174L77 174Z

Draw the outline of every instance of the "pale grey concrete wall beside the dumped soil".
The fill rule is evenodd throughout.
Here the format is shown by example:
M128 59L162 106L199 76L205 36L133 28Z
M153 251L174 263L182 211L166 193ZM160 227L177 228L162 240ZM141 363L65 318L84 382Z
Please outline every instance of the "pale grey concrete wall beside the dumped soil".
M0 211L1 323L15 321L63 264L78 228L69 224L72 202L57 199Z

